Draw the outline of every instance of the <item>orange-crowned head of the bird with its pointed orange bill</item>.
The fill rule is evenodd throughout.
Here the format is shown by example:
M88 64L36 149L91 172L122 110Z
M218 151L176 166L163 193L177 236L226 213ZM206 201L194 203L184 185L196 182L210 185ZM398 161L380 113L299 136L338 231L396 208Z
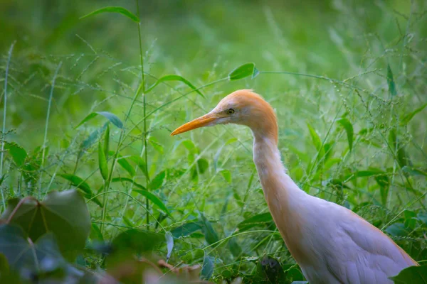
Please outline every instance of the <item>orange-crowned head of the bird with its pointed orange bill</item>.
M179 126L171 135L216 124L242 124L249 126L255 136L268 136L276 142L278 139L278 124L273 108L250 89L228 94L208 114Z

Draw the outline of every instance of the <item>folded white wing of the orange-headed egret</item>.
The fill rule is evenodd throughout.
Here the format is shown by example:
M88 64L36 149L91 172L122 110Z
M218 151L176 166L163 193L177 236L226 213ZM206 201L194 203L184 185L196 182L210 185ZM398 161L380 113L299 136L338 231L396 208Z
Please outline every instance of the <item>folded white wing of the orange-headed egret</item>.
M325 264L341 283L392 283L389 277L417 265L375 226L344 207L338 209L334 244L325 248Z

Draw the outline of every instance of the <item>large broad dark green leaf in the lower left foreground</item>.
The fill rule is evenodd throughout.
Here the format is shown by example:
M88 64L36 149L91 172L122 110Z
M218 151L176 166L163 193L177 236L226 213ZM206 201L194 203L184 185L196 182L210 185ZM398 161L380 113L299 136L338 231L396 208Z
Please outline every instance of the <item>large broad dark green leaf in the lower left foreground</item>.
M63 256L70 261L83 251L91 222L88 206L79 192L49 192L43 202L26 198L14 212L18 201L9 201L1 219L21 226L33 241L52 232Z

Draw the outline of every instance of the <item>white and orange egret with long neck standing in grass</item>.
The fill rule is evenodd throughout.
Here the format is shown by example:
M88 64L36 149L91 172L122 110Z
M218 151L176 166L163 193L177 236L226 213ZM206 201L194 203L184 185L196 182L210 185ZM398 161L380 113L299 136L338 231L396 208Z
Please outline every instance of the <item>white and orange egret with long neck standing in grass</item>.
M389 277L418 266L389 236L352 210L297 186L278 150L275 111L259 94L251 89L232 92L208 114L180 126L171 136L217 124L251 129L253 161L268 208L309 283L393 283Z

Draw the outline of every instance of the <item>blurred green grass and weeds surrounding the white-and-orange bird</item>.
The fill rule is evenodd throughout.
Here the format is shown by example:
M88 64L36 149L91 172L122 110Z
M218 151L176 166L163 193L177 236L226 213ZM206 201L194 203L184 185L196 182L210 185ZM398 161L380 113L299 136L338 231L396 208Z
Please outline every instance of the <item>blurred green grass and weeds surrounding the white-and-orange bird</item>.
M133 1L4 1L1 207L79 187L93 222L88 247L131 228L192 228L174 239L172 265L204 262L206 275L212 263L214 282L250 282L266 254L280 260L288 282L302 280L265 214L251 131L228 125L169 136L226 94L251 88L275 108L295 182L349 207L425 263L427 6L362 2L141 1L137 9ZM123 6L141 24L118 13L79 20L104 6ZM246 62L260 74L228 80ZM150 88L171 74L184 79ZM110 114L79 125L100 111ZM142 188L152 195L133 191ZM155 253L166 259L166 241ZM88 250L78 264L106 267Z

